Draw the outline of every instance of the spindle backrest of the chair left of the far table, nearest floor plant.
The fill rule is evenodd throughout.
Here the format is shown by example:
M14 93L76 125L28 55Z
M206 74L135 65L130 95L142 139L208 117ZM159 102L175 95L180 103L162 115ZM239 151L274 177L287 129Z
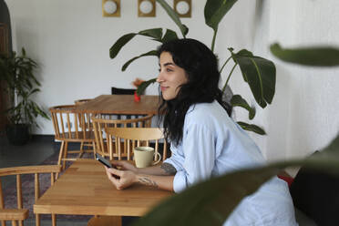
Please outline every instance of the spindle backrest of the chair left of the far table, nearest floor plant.
M49 108L58 140L87 141L94 139L90 113L79 113L75 105Z

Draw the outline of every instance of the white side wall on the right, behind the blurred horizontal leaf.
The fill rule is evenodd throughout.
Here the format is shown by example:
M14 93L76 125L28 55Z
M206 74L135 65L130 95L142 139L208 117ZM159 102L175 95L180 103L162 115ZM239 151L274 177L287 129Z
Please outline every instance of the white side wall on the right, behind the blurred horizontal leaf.
M339 47L339 2L335 0L258 1L254 49L274 59L277 87L273 104L261 113L269 136L263 150L268 159L301 157L322 149L338 133L338 67L286 64L267 51L268 44L284 47ZM258 19L259 20L259 19ZM264 34L264 35L262 35ZM265 47L266 46L266 47ZM266 49L265 49L266 48ZM256 138L257 139L257 138Z

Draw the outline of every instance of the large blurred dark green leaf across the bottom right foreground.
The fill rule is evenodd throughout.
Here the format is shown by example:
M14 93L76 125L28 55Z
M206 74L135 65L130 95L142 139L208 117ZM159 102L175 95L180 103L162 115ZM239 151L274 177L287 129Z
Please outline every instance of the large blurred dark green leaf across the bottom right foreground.
M339 136L313 158L282 161L212 178L173 195L133 225L222 225L244 197L254 193L262 183L286 167L303 165L305 168L339 173L338 152Z

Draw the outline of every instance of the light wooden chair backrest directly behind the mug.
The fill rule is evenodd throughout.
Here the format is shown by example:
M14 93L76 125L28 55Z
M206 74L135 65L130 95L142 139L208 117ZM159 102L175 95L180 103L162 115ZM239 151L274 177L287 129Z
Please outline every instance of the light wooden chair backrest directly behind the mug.
M109 151L115 146L118 155L125 154L128 160L133 155L132 150L139 146L153 147L156 153L160 153L162 160L167 158L167 144L163 130L160 128L107 128L106 132ZM124 145L121 144L122 142ZM159 149L160 145L162 149ZM155 158L157 157L158 155L155 155Z

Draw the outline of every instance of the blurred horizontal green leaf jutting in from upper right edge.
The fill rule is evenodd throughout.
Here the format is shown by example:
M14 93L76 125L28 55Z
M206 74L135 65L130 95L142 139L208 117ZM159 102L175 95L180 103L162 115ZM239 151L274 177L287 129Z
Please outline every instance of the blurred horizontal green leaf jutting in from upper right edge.
M339 49L330 46L282 48L279 44L271 45L274 56L283 61L315 67L339 66Z

